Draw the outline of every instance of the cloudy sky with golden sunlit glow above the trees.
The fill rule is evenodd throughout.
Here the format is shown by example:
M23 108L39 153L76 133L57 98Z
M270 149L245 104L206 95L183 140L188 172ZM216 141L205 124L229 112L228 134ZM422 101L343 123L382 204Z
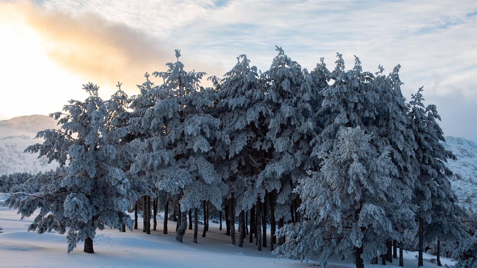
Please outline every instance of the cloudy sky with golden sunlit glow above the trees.
M477 142L477 1L0 1L0 37L0 120L60 111L87 82L136 94L174 49L221 76L240 54L268 69L278 45L308 70L336 52L401 64L404 96L424 86L445 134Z

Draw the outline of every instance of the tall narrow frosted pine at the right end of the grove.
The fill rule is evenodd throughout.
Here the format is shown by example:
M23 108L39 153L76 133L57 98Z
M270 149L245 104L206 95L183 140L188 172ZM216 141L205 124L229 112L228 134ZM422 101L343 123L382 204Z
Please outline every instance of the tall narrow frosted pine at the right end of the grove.
M456 201L450 190L449 176L452 172L446 167L447 159L456 159L452 152L446 150L440 142L445 141L442 129L436 120L440 120L436 105L424 106L423 87L412 95L409 102L409 118L416 142L415 157L418 170L413 202L418 206L416 221L418 222L418 266L423 266L423 248L426 225L443 220L446 213L441 209L453 209ZM453 213L453 212L450 212ZM450 215L446 221L454 221ZM446 228L446 227L443 227ZM459 225L456 226L459 228ZM441 229L436 235L447 232ZM456 229L456 233L459 231ZM437 239L439 237L433 237Z

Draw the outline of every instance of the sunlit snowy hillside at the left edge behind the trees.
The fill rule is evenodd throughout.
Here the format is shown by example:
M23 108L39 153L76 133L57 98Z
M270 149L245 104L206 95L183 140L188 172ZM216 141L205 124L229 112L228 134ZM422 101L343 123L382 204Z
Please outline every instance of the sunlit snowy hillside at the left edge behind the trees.
M41 143L35 139L38 131L56 128L56 121L46 115L29 115L0 121L0 175L13 172L47 171L57 166L48 164L38 154L24 154L29 145Z

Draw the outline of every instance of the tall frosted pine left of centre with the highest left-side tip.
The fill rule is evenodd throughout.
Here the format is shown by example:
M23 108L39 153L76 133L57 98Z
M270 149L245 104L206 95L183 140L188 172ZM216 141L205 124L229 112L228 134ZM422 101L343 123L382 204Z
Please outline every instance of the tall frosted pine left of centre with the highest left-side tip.
M166 64L166 72L153 73L163 83L139 97L145 99L146 104L141 105L149 107L138 111L133 122L145 138L143 151L131 170L152 179L157 189L177 197L177 212L181 215L176 240L182 242L187 211L199 207L203 200L220 207L226 188L208 161L213 158L212 144L224 138L219 131L220 121L208 113L214 93L200 86L204 72L184 70L178 61L179 52L176 50L177 62Z

